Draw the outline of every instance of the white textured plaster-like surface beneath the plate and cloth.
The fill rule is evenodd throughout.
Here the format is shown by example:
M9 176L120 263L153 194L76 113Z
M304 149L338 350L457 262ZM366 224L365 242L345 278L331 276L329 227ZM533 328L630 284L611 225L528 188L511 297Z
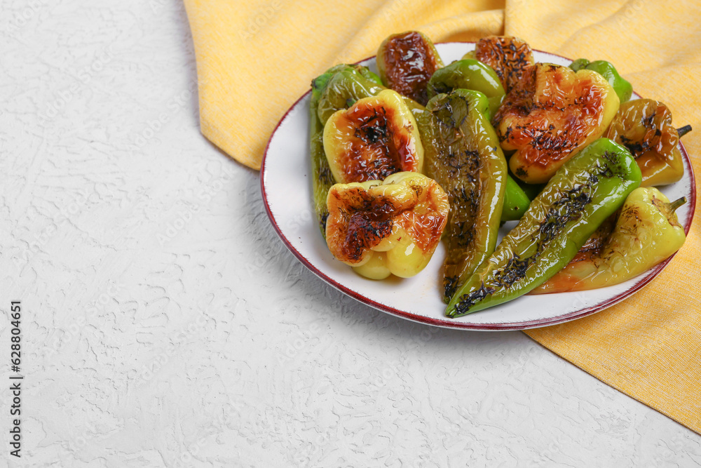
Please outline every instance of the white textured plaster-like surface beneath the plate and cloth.
M0 388L15 299L26 378L20 462L0 391L0 466L701 464L700 436L522 333L325 286L194 90L176 0L2 1Z

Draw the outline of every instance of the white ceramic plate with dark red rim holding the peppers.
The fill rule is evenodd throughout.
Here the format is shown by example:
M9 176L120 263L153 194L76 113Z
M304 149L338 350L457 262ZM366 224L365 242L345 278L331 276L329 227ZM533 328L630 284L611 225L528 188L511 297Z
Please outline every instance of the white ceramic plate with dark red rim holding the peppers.
M437 44L445 63L459 60L475 48L474 43ZM534 52L536 62L569 65L571 60L545 52ZM375 59L360 62L376 72ZM554 325L594 314L632 295L646 285L667 265L669 260L615 286L580 293L526 295L517 300L469 314L459 319L444 316L441 300L441 265L445 256L442 244L420 274L409 279L391 276L383 281L364 279L350 267L334 260L322 238L311 200L311 179L308 144L309 95L306 93L292 105L278 123L268 142L261 168L263 199L275 231L285 246L312 272L330 285L355 299L404 319L448 328L469 330L523 330ZM633 98L639 98L634 95ZM688 203L677 210L686 232L691 225L696 198L695 181L686 151L681 147L685 173L682 180L662 187L669 199L686 196ZM506 234L517 222L508 222L501 229Z

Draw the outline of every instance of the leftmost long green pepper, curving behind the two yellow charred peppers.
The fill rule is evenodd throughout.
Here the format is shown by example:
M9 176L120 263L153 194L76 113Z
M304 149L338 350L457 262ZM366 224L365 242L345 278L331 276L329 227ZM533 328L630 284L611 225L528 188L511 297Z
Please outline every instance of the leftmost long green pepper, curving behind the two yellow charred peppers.
M326 197L334 185L334 176L324 153L324 124L338 109L351 107L353 103L384 89L379 77L360 65L336 65L313 79L309 104L309 138L313 204L322 235L326 233L329 210Z

